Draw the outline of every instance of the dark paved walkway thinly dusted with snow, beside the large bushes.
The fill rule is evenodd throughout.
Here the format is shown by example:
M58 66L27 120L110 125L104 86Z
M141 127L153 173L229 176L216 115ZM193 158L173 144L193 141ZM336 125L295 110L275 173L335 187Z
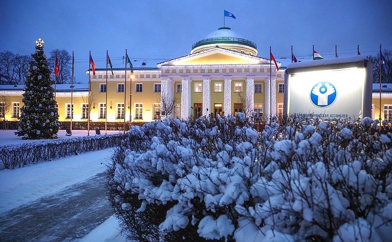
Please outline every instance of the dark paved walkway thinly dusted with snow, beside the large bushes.
M0 241L77 241L114 213L106 182L105 174L99 173L0 215Z

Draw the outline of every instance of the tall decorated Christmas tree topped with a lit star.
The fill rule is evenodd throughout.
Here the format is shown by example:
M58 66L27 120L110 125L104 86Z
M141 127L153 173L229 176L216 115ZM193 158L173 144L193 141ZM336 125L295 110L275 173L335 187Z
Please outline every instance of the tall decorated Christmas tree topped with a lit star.
M50 69L43 54L43 40L38 39L33 60L26 75L24 106L20 108L17 136L22 139L56 139L58 111L51 86Z

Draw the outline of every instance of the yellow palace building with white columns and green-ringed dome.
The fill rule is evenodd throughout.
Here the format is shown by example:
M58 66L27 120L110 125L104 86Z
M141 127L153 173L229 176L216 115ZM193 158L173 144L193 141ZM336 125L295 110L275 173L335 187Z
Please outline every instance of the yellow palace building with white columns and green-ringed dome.
M124 68L114 68L106 85L106 69L96 69L96 75L86 71L91 80L90 119L123 122L125 117L126 121L149 122L161 116L185 119L251 111L260 120L279 117L283 113L285 70L280 67L277 71L272 62L270 73L270 59L257 56L254 42L222 27L195 42L190 54L158 63L156 68L134 68L132 77L129 69L125 74ZM110 70L107 73L111 74ZM1 118L18 120L19 107L24 105L23 87L0 85L0 96L11 102L5 117L5 105L0 102ZM391 84L382 86L382 118L388 120L392 119L390 91ZM71 112L73 121L87 121L89 84L75 84L72 95L71 103L70 84L56 86L59 121L70 120ZM163 106L170 103L173 112L166 114ZM374 84L372 103L372 118L377 119L378 84Z

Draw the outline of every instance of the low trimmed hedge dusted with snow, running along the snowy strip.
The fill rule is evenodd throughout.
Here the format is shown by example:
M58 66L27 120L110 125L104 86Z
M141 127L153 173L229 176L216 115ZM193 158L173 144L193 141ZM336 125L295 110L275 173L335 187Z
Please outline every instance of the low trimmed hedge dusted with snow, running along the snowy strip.
M0 147L0 170L118 146L126 135L85 136Z

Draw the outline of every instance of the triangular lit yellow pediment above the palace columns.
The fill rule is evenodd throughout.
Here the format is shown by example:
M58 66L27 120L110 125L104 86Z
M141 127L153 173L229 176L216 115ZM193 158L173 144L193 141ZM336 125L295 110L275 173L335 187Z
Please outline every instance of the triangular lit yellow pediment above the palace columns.
M161 63L161 65L221 65L266 63L269 63L269 60L257 56L247 55L223 48L212 48L210 50L168 60Z

